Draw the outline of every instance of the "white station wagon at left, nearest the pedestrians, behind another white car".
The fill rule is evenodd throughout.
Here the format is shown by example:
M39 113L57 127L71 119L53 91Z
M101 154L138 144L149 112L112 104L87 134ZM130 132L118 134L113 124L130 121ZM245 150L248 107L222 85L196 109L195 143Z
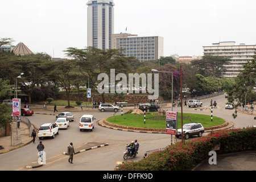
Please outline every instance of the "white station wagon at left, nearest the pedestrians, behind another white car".
M59 127L53 123L45 123L41 125L38 129L39 139L42 139L43 137L55 138L56 134L59 134Z

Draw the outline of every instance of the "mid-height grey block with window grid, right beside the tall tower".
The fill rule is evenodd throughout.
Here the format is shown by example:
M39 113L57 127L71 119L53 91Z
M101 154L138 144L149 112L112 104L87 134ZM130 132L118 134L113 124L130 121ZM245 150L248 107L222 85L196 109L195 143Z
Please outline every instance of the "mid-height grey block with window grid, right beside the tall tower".
M163 38L160 36L143 36L131 34L114 34L112 48L123 49L127 57L134 56L141 62L160 59L163 56Z

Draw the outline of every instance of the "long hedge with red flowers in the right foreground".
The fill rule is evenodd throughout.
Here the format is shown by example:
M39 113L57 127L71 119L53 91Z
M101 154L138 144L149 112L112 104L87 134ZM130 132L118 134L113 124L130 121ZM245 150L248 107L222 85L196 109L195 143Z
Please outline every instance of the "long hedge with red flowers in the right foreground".
M205 137L185 140L156 151L139 162L125 162L118 171L176 171L191 170L210 156L214 146L220 145L219 154L256 149L256 127L217 131Z

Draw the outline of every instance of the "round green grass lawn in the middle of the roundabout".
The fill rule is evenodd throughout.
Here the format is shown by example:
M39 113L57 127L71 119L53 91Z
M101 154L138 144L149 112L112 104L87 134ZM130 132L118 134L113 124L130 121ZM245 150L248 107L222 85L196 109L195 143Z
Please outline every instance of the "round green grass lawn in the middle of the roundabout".
M166 128L166 116L165 115L152 115L150 112L146 114L146 124L144 124L144 115L138 114L123 114L109 117L108 122L123 125L123 126L133 126L133 127L144 127L144 128L157 128L165 129ZM203 127L216 126L224 123L224 119L214 117L213 121L210 119L210 115L204 114L191 114L183 113L183 125L185 123L197 122L201 123ZM178 115L178 129L181 128L181 113Z

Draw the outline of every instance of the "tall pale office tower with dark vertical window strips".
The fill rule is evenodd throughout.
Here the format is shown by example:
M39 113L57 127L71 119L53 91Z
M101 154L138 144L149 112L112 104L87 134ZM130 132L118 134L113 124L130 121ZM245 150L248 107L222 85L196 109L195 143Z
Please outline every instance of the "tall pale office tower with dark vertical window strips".
M87 8L87 46L110 49L114 32L113 0L90 0Z

